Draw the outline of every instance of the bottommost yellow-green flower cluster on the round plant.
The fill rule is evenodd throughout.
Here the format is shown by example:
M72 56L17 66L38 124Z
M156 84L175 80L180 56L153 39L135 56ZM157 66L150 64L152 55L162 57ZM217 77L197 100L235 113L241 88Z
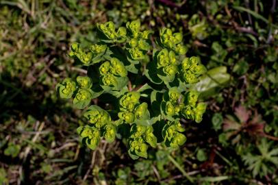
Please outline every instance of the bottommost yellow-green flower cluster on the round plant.
M153 127L133 124L130 133L129 154L131 154L131 157L138 158L140 156L147 158L147 143L151 147L156 147L157 143L157 138L153 134Z

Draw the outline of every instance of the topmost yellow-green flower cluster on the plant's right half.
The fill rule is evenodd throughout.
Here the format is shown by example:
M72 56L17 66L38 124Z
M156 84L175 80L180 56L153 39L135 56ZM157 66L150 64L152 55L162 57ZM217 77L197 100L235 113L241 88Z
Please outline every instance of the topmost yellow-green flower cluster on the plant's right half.
M160 30L160 42L163 47L166 47L170 50L175 51L180 55L186 54L187 48L182 45L182 34L181 33L172 33L171 29L164 27Z

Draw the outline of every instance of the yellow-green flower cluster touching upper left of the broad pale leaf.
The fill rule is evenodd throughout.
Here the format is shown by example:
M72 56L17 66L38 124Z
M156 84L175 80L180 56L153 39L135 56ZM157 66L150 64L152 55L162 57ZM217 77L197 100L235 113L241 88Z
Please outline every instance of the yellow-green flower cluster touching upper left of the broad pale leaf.
M181 62L181 75L188 84L199 82L199 76L205 73L206 69L197 57L185 58Z

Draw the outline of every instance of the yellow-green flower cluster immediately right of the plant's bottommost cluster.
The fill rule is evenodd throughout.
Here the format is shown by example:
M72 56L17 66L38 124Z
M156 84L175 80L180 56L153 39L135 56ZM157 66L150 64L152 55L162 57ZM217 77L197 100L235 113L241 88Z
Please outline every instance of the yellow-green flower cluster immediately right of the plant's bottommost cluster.
M179 121L168 121L162 129L162 136L166 147L177 148L186 143L186 136L181 134L184 132L184 127L181 126Z

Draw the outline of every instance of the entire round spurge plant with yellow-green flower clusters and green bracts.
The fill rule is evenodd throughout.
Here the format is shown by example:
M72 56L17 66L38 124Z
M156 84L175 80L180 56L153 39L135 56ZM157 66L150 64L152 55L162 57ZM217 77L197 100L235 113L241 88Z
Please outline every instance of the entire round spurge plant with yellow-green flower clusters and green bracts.
M69 53L88 66L87 76L56 86L60 97L73 97L75 108L87 107L86 122L77 128L82 142L95 149L101 138L108 143L125 138L133 159L147 158L149 146L183 145L180 121L199 123L206 108L199 93L190 90L205 66L198 57L185 56L183 34L162 28L157 42L151 42L151 31L142 30L139 20L118 29L112 22L98 24L97 30L97 44L73 43ZM88 106L91 102L101 107Z

